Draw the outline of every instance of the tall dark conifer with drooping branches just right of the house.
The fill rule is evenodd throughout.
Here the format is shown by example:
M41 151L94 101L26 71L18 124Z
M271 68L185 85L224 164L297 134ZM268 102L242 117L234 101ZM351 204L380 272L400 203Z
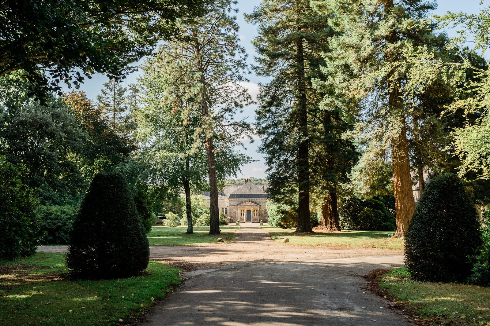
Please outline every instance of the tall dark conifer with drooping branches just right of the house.
M261 85L256 121L266 156L270 197L277 201L298 192L298 232L311 232L310 147L308 117L318 104L310 96L319 52L330 29L325 15L313 11L309 0L264 0L248 22L257 25L252 41L258 75L271 78ZM324 50L324 49L323 49Z

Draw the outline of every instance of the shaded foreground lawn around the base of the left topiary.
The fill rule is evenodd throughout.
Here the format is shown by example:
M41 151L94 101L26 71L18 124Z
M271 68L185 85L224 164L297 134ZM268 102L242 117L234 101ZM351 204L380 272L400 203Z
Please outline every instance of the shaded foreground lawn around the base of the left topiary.
M65 278L65 255L36 253L0 262L2 325L117 325L172 292L177 268L150 261L142 276L76 281Z

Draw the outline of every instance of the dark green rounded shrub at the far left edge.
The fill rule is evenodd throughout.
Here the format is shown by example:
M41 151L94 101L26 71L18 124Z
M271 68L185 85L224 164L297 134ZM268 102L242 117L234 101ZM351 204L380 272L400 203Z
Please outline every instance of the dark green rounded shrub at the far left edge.
M0 261L33 254L41 239L37 200L23 174L0 155Z

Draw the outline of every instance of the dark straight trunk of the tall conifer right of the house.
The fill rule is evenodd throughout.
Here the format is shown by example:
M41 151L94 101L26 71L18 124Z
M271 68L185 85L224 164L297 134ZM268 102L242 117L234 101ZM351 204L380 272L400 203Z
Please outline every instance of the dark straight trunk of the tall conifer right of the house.
M310 164L308 140L308 108L306 103L306 79L303 54L303 39L296 42L298 64L298 224L297 232L313 232L310 223Z

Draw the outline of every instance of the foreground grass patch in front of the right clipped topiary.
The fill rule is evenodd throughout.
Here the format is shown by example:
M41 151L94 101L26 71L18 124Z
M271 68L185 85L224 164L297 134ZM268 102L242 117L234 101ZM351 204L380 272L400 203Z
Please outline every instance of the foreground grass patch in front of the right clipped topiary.
M378 283L395 303L422 319L440 325L490 325L490 288L411 281L406 267L382 275Z

